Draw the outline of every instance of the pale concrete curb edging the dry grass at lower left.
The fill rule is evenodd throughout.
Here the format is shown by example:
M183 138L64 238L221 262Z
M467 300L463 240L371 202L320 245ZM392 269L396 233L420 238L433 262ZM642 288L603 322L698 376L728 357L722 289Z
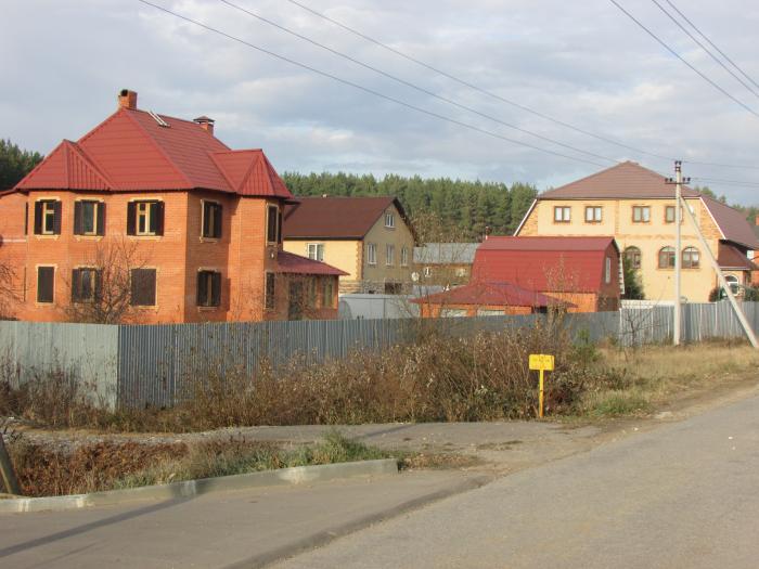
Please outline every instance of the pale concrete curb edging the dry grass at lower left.
M278 470L263 470L260 473L221 476L218 478L202 478L200 480L171 482L170 484L145 486L142 488L130 488L128 490L110 490L107 492L93 492L91 494L0 500L0 514L64 512L89 506L125 504L139 500L172 500L227 490L301 484L350 478L353 476L381 476L389 474L398 474L398 462L395 458L323 464L318 466L295 466L292 468L280 468Z

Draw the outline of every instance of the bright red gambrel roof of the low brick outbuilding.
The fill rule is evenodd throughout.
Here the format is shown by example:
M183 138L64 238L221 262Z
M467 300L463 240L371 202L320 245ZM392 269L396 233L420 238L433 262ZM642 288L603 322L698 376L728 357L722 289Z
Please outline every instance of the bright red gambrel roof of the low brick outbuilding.
M472 282L512 283L541 292L596 293L614 237L489 237L477 248ZM612 271L618 279L617 266Z

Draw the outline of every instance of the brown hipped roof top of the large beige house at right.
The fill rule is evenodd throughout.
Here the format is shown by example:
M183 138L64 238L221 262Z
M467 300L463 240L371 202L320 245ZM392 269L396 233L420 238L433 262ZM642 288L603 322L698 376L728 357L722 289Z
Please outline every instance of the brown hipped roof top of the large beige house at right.
M619 199L673 198L674 186L660 173L634 161L623 161L587 178L549 190L538 199ZM698 197L695 190L683 185L683 197Z

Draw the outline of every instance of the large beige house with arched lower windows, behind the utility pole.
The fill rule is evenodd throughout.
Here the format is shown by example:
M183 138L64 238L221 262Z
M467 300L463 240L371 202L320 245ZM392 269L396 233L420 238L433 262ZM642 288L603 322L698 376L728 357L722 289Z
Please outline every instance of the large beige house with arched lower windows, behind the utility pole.
M709 248L735 290L750 285L752 251L759 240L744 215L683 186ZM642 166L626 161L538 196L515 235L614 235L623 262L639 270L646 299L674 298L674 186ZM683 212L682 295L706 302L717 287L696 231Z

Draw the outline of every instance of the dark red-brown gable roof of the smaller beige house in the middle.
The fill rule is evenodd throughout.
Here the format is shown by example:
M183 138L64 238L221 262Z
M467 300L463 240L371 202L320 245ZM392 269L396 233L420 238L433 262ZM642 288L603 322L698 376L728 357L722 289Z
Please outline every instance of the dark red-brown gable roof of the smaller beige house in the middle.
M284 238L361 240L391 205L406 220L403 208L391 196L298 197L298 202L285 209Z

